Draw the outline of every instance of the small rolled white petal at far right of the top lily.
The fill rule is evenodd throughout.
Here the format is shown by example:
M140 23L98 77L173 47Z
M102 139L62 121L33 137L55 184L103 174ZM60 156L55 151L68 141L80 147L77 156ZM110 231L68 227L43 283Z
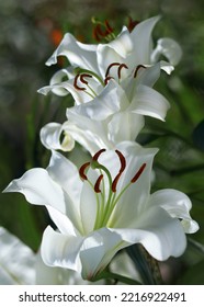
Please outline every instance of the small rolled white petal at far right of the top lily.
M151 54L152 62L158 61L160 55L165 56L171 65L177 65L181 57L182 50L180 45L172 38L160 38L157 42L157 46Z

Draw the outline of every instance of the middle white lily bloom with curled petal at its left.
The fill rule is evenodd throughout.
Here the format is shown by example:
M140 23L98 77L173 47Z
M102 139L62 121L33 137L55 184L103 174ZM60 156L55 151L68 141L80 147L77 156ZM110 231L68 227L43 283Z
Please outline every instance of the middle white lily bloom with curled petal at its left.
M41 130L43 145L66 151L72 149L75 139L93 154L100 148L113 148L123 140L135 140L144 127L144 115L165 121L169 109L169 102L151 89L159 71L159 65L139 69L137 80L125 79L123 87L110 80L95 99L67 109L68 121L63 125L44 126ZM60 141L63 132L70 145Z

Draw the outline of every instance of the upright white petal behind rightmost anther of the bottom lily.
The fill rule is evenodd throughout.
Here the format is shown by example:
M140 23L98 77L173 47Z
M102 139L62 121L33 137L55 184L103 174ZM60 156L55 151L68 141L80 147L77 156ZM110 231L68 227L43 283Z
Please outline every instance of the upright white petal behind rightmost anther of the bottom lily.
M126 144L124 144L126 146ZM117 194L127 186L141 166L146 163L144 171L136 182L132 183L124 194L120 197L107 226L111 228L132 228L143 211L148 206L150 192L150 178L152 159L158 151L156 148L148 149L127 144L127 147L120 151L126 158L126 169L122 174L116 191Z

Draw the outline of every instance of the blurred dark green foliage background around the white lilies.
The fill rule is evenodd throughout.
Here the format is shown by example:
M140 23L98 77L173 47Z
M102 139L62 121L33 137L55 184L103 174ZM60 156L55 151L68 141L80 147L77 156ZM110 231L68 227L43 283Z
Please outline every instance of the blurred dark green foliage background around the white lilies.
M58 35L70 32L83 43L95 43L92 16L107 19L120 33L128 16L143 21L157 14L162 19L154 30L154 39L174 38L183 57L175 71L170 77L162 73L157 83L171 103L166 123L147 118L138 141L160 148L152 191L173 187L186 193L193 203L192 216L201 227L189 236L180 259L161 264L168 272L167 283L204 284L203 0L0 0L0 190L25 170L46 167L49 152L39 143L39 128L66 118L69 96L45 98L36 92L64 64L45 66ZM0 225L34 250L47 219L43 207L29 205L22 195L0 194Z

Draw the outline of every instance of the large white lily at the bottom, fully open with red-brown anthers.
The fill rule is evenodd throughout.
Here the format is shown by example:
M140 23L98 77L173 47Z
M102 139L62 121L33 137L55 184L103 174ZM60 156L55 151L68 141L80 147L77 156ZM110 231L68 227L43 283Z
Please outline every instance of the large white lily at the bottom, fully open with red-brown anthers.
M30 203L45 205L57 227L44 231L42 258L47 265L91 280L118 250L134 243L158 260L183 253L184 232L199 226L190 217L185 194L175 190L150 194L156 152L123 143L115 151L98 151L78 172L53 151L46 170L29 170L9 184L5 192L21 192Z

